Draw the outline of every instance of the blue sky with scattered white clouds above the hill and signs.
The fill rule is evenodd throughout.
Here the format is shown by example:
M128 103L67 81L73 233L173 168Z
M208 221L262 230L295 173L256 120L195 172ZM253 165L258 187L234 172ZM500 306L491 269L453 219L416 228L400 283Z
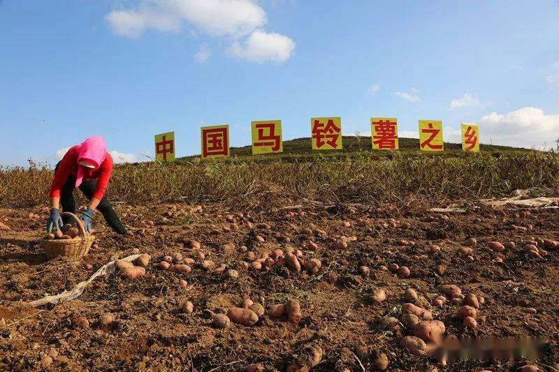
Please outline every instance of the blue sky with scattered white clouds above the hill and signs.
M344 134L372 116L460 122L481 142L542 147L559 137L559 4L554 0L0 0L0 164L55 163L89 135L129 160L175 131L310 117ZM60 152L60 151L59 151Z

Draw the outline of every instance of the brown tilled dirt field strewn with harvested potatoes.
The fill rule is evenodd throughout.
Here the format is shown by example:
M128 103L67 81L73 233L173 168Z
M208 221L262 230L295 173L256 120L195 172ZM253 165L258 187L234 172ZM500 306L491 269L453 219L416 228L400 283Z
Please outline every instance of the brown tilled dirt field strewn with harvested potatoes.
M261 363L266 371L285 371L308 345L323 350L312 371L370 371L381 353L391 371L516 371L526 363L559 369L559 248L540 251L539 257L523 249L523 241L559 239L558 209L525 215L513 207L472 204L466 213L441 214L415 204L405 210L340 204L256 213L220 204L121 204L117 211L133 235L113 234L97 215L99 246L87 257L46 260L38 239L48 211L0 209L0 221L11 228L0 230L0 370L245 371L248 364ZM334 249L342 236L348 237L347 248ZM477 239L472 252L460 252L470 237ZM201 243L205 260L237 270L238 278L204 269L191 240ZM514 242L516 248L497 253L488 241ZM250 262L248 252L258 258L289 247L300 249L305 259L321 260L318 273L243 265ZM144 277L131 280L115 272L93 281L71 302L26 304L71 290L111 260L138 251L151 255ZM195 261L189 274L157 268L176 252ZM498 258L502 262L495 262ZM409 267L411 275L390 271L393 263ZM457 317L460 300L432 305L442 284L485 299L477 329ZM371 297L379 288L387 298L376 303ZM419 294L417 304L444 322L447 335L541 336L542 357L443 365L410 354L400 346L402 336L413 333L402 320L407 288ZM296 325L264 315L253 326L217 329L203 313L226 313L245 297L264 307L298 299L303 318ZM182 311L187 301L194 304L190 315ZM101 315L107 313L115 321L103 325ZM382 319L391 316L402 324L383 329Z

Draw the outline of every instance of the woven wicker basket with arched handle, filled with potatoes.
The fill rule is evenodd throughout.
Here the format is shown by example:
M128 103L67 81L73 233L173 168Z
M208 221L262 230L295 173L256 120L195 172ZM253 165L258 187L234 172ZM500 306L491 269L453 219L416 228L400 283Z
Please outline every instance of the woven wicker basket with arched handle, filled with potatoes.
M55 258L60 255L66 257L82 257L87 255L89 248L91 248L95 237L85 232L80 220L75 214L70 212L63 212L62 216L68 216L75 220L80 235L72 239L43 239L41 240L41 247L47 254L48 258Z

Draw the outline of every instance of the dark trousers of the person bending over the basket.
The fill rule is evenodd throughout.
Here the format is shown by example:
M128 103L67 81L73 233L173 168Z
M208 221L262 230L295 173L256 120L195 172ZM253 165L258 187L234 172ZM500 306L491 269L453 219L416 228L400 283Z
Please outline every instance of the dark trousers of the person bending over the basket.
M57 172L59 165L60 163L57 164L55 173ZM96 179L88 179L87 181L82 181L79 188L87 199L92 200L96 186ZM68 176L68 179L66 179L66 183L62 186L62 190L60 191L60 204L62 204L62 211L75 213L74 188L75 177L70 175ZM112 228L112 230L115 230L119 234L126 234L126 228L122 225L115 209L112 209L112 205L110 205L106 195L103 195L103 198L101 198L101 202L99 202L97 210L101 212L103 217L105 217L105 221L107 221L107 224ZM62 219L64 220L64 223L70 222L69 218Z

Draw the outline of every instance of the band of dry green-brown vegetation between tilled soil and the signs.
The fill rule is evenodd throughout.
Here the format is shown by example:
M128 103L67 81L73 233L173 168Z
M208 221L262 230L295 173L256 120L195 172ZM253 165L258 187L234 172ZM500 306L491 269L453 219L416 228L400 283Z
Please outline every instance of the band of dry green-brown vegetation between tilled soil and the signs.
M404 151L373 152L370 142L359 147L355 137L344 137L344 151L326 153L311 152L304 142L287 141L281 156L247 156L242 151L249 149L240 148L226 160L119 165L108 195L129 203L212 201L263 209L312 201L401 204L409 198L438 204L559 186L554 153L486 147L479 154L420 154L406 150L417 144L407 139ZM52 175L47 168L0 170L0 204L45 204Z

